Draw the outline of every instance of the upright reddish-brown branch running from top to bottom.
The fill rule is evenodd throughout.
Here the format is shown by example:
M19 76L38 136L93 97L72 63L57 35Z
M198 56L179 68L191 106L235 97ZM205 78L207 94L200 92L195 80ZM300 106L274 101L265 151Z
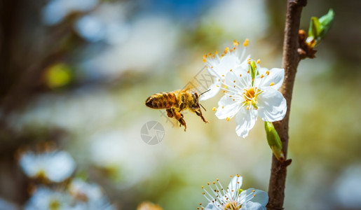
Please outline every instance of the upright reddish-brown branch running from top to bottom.
M299 48L299 22L301 11L306 6L306 0L288 0L287 14L285 24L285 38L283 42L283 61L282 66L285 69L285 80L281 87L281 92L287 100L287 113L283 120L273 123L282 141L283 153L285 153L285 162L279 162L272 155L271 177L268 186L268 210L283 209L283 200L285 198L285 182L287 176L287 166L291 160L287 160L288 146L288 123L290 119L290 107L292 100L292 91L294 78L297 72L297 66L301 59L297 49Z

